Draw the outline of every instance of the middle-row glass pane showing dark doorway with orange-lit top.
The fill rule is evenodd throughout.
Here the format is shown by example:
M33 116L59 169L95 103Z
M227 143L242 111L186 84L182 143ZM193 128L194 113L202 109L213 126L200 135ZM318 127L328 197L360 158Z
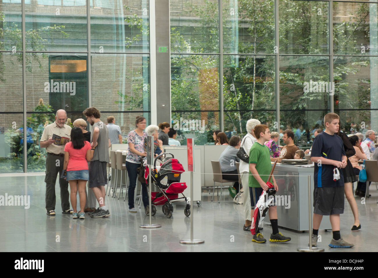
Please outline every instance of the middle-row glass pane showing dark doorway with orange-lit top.
M86 54L26 53L33 61L26 68L27 111L40 101L54 111L83 111L88 107Z

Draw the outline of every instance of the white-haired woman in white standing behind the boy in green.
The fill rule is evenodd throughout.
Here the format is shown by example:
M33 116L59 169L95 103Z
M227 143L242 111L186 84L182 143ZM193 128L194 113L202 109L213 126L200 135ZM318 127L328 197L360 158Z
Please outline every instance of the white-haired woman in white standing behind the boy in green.
M256 142L256 137L253 133L253 129L258 124L261 124L259 120L249 119L246 123L247 134L243 137L240 148L243 148L245 153L249 155L249 151L252 148L252 145ZM243 206L244 206L244 216L245 216L245 225L243 225L243 230L250 231L252 224L252 214L254 209L253 197L249 196L249 163L240 160L239 165L240 177L243 185ZM251 200L253 203L251 203Z

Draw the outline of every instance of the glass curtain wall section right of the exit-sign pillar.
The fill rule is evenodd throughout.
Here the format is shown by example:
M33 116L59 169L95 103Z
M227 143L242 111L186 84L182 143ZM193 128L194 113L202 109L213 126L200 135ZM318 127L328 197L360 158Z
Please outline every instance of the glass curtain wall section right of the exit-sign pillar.
M180 139L212 144L220 121L230 137L257 118L271 131L292 129L306 149L331 111L347 134L376 131L378 3L370 2L170 1L172 120L203 121L208 134L180 126Z

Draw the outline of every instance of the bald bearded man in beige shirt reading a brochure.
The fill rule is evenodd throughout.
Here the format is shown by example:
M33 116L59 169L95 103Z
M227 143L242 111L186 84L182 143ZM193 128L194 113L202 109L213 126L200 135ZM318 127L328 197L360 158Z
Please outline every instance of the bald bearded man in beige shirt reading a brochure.
M71 127L67 126L67 113L60 109L56 112L55 121L45 127L40 140L40 147L46 148L46 211L48 215L55 215L55 183L56 176L59 174L60 201L62 204L62 213L71 214L70 210L70 193L68 192L68 182L60 179L64 165L64 145L54 144L53 134L60 137L71 138Z

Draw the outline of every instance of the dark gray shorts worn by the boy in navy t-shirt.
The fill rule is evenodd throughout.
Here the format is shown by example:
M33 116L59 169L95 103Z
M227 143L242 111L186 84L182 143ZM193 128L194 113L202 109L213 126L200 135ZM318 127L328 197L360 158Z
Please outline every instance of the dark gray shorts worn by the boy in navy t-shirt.
M314 188L314 213L321 215L344 213L344 186Z

